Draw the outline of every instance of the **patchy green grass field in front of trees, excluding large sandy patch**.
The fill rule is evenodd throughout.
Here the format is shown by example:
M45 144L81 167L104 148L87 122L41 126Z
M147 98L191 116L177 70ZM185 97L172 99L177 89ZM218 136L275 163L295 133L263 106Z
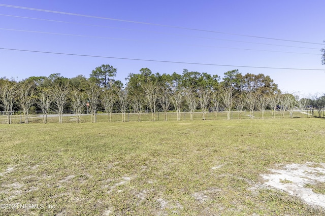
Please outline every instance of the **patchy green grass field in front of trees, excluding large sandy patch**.
M324 119L101 118L0 124L0 215L325 214L261 177L325 162Z

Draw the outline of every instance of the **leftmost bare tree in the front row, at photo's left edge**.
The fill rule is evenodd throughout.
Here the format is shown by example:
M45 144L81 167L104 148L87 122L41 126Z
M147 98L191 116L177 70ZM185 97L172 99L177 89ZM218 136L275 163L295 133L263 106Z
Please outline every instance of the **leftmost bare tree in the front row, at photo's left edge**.
M0 89L0 100L2 103L3 110L7 115L7 124L12 123L12 114L14 113L14 103L15 103L15 95L16 95L16 84L5 83L1 86Z

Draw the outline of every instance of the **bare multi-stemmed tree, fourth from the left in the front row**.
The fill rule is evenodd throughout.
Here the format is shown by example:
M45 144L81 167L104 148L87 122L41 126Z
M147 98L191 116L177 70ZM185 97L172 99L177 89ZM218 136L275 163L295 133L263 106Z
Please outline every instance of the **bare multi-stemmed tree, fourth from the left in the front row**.
M54 109L59 116L59 123L62 124L63 110L67 104L68 95L70 93L69 84L57 84L53 87L52 91Z

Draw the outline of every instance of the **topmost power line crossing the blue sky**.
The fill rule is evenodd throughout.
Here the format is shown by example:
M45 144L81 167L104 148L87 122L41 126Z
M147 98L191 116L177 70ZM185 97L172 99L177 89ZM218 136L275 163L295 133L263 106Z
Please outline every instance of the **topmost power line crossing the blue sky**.
M193 30L193 31L204 31L204 32L210 32L210 33L230 34L230 35L237 35L237 36L249 37L249 38L260 38L260 39L268 39L268 40L276 40L276 41L288 41L288 42L296 42L296 43L324 45L322 43L313 43L313 42L305 42L305 41L294 41L294 40L277 39L277 38L267 38L267 37L259 37L259 36L248 35L248 34L236 34L236 33L227 33L227 32L222 32L222 31L213 31L213 30L205 30L205 29L198 29L198 28L187 28L187 27L174 26L174 25L163 25L163 24L156 24L156 23L149 23L149 22L138 22L138 21L132 21L132 20L122 20L122 19L114 19L114 18L107 18L107 17L98 17L98 16L91 16L91 15L84 15L84 14L75 14L75 13L61 12L61 11L51 11L51 10L44 10L44 9L37 9L37 8L27 8L27 7L14 6L14 5L0 4L0 6L2 6L2 7L8 7L8 8L23 9L23 10L31 10L31 11L40 11L40 12L47 12L47 13L55 13L55 14L63 14L63 15L71 15L71 16L88 17L88 18L95 18L95 19L105 19L105 20L112 20L112 21L119 21L119 22L136 23L136 24L143 24L143 25L152 25L152 26L161 26L161 27L169 27L169 28L178 28L178 29Z

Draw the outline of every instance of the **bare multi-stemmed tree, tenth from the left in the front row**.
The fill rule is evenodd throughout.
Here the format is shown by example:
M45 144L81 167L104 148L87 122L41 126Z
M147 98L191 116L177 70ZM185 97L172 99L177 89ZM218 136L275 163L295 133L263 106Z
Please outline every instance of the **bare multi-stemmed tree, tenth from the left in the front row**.
M156 85L156 83L146 83L141 86L145 92L145 100L152 114L151 121L156 121L158 86Z

